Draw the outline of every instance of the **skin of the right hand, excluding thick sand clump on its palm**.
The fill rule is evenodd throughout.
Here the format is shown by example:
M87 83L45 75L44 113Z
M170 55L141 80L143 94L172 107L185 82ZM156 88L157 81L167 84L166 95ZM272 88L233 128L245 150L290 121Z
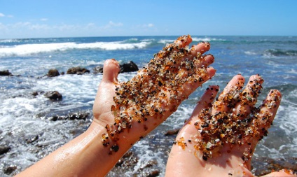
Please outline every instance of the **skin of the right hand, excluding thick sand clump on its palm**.
M243 83L243 76L234 76L215 102L218 103L222 100L226 100L223 98L228 97L228 95L230 96L228 92L234 90L234 88L237 92L240 91L243 87ZM241 138L240 142L235 141L234 144L223 143L223 146L221 146L219 150L214 149L212 157L203 157L202 149L200 150L195 146L196 143L195 140L193 141L193 134L198 134L198 127L201 128L201 125L205 123L204 120L199 117L204 109L209 110L209 113L213 116L218 112L233 112L238 114L241 110L242 115L247 118L256 103L256 97L258 96L258 91L261 90L262 83L263 79L261 76L251 76L244 91L249 92L249 95L252 94L253 90L256 91L254 92L256 93L256 95L254 95L254 100L249 101L247 104L242 104L242 100L244 99L241 97L241 99L239 99L240 101L235 101L235 104L230 108L226 106L226 104L222 105L214 103L214 98L219 91L219 86L209 86L200 101L198 101L197 106L195 106L191 118L185 123L184 127L181 128L177 135L177 143L172 146L172 150L168 157L165 176L254 176L250 172L251 155L254 153L254 149L259 139L265 136L265 132L267 132L267 129L275 118L282 97L278 90L270 91L261 105L261 112L258 115L258 119L251 120L252 124L250 126L256 125L261 129L257 136L249 134L247 137ZM254 85L260 86L254 87ZM245 113L243 113L244 111ZM270 116L268 119L263 119L265 115ZM239 117L239 119L244 120L242 117ZM198 125L196 124L195 126L195 122L198 122ZM239 129L237 129L237 132L238 131ZM254 129L254 132L256 132L256 129ZM233 134L238 136L234 129ZM183 145L183 143L179 142L181 138L184 139L186 146L181 146ZM198 134L198 140L201 139L202 136ZM247 153L247 150L250 154L244 156L244 153ZM291 171L276 171L266 176L291 176Z

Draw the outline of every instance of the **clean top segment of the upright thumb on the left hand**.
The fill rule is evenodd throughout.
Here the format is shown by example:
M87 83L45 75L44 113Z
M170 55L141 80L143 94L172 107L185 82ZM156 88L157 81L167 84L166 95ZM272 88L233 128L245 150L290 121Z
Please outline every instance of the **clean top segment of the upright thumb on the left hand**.
M120 65L116 59L107 59L103 66L103 78L104 83L118 83L118 72L120 71Z

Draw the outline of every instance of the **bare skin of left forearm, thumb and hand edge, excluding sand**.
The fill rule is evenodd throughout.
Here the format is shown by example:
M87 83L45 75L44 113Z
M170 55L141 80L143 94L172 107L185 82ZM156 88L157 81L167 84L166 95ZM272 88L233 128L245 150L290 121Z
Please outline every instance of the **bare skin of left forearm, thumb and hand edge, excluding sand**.
M169 54L178 52L179 49L185 48L190 43L191 37L186 38L186 40L179 38L175 41L177 48L174 48ZM193 45L192 50L184 55L181 60L191 60L198 53L203 54L209 48L208 43ZM163 58L161 56L159 58L155 57L155 59ZM212 55L205 55L205 57L200 58L200 63L195 65L195 69L198 71L201 68L205 71L203 80L197 83L186 82L180 85L181 87L186 87L180 93L183 95L181 99L186 99L197 87L214 76L215 70L211 67L207 68L212 62L214 62ZM117 79L119 70L119 64L115 59L108 59L104 62L103 78L95 97L93 106L94 119L90 127L83 134L76 137L76 139L69 141L69 143L50 153L50 155L44 157L32 165L32 167L22 171L17 176L105 176L134 143L151 132L151 130L160 125L160 123L165 121L173 113L173 111L170 111L170 108L179 106L181 103L182 100L167 104L166 108L168 109L165 109L161 117L150 117L145 123L139 124L136 120L132 120L132 127L130 129L124 129L123 132L118 134L118 140L116 142L110 141L109 146L104 146L102 135L106 134L111 139L109 132L106 130L106 125L113 125L115 123L115 115L111 111L111 106L115 104L113 97L116 96L116 86L120 84ZM181 71L174 74L180 74L186 78L187 76L184 76L184 73ZM141 74L146 76L146 71L139 71L137 76ZM166 86L163 89L166 89ZM165 97L164 99L168 101L169 97ZM144 126L146 129L144 129ZM116 151L111 150L114 144L118 147Z

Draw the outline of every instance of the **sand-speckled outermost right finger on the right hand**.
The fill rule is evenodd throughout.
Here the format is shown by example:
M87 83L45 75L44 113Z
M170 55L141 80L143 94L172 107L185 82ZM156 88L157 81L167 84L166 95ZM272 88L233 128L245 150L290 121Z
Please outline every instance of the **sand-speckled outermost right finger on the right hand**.
M256 119L254 119L254 124L251 124L251 126L258 130L258 136L256 136L258 141L260 141L263 136L267 136L268 129L270 125L272 125L281 99L282 94L278 90L271 90L263 101L260 111L256 113Z

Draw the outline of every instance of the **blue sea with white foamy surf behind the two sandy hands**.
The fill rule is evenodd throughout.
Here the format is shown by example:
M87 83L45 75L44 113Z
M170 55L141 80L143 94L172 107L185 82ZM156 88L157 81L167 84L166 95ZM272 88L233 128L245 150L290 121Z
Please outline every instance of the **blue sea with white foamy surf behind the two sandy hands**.
M0 146L8 148L0 155L0 176L13 176L64 143L81 134L92 121L92 104L102 73L94 73L105 59L114 58L121 64L133 61L144 66L166 43L178 36L125 36L82 38L0 39L0 71L13 76L0 76ZM265 82L258 100L269 90L282 92L282 103L269 134L256 148L253 172L265 169L265 160L288 162L297 160L297 36L192 36L193 44L209 41L217 70L212 80L193 92L178 110L146 138L137 142L108 176L164 176L174 135L191 115L195 103L208 85L226 83L240 73L247 80L260 74ZM60 73L81 66L90 73L64 74L53 78L49 69ZM136 72L120 73L127 81ZM50 101L34 92L57 91L61 101ZM75 113L88 113L85 119L66 118ZM53 116L64 119L53 121ZM263 163L261 163L263 162ZM153 172L152 172L153 171Z

